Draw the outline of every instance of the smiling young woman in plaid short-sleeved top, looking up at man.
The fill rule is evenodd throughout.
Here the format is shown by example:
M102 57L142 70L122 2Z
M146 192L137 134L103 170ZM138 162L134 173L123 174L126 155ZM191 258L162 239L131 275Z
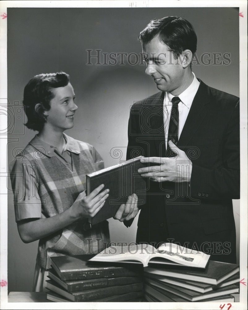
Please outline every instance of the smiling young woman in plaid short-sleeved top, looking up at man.
M36 75L24 88L23 104L25 125L38 134L11 163L11 184L19 235L25 243L39 240L33 290L42 291L51 256L95 253L106 247L108 222L88 230L84 224L104 205L109 189L102 184L86 196L85 175L102 169L104 162L92 145L64 134L74 126L78 109L68 74ZM114 218L134 218L136 198L130 196Z

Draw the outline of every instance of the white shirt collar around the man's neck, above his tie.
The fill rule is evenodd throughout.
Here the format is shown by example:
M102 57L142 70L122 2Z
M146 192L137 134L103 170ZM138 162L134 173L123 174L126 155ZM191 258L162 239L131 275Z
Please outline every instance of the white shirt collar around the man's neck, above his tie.
M192 81L192 83L190 84L190 86L188 88L186 88L185 91L183 91L180 95L178 95L178 97L180 98L180 100L182 101L182 103L184 105L186 105L187 108L191 107L191 104L195 98L195 94L198 91L200 82L197 80L197 78L195 77L194 72L192 72L194 75L194 79ZM171 93L166 92L166 96L165 96L165 104L168 105L168 101L171 102L172 98L175 97L173 96Z

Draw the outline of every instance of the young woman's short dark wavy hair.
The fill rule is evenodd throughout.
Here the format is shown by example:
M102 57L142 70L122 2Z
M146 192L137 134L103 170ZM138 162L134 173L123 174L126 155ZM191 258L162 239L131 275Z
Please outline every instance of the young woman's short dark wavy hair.
M70 76L64 72L41 73L34 76L24 88L23 104L29 129L40 131L45 122L45 111L51 108L52 89L68 85Z

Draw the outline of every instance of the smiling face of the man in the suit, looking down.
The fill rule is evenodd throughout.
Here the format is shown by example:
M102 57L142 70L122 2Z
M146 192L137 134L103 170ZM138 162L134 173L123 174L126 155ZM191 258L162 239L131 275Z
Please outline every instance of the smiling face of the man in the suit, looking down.
M186 72L182 67L182 55L175 59L169 47L161 43L158 35L143 45L143 53L148 57L146 74L151 75L160 91L168 91L179 95L187 81Z

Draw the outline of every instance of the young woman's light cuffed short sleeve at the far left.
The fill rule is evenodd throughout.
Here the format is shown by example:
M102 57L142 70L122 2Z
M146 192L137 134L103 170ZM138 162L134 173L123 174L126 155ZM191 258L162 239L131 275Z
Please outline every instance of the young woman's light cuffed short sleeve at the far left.
M15 159L10 164L11 186L14 194L15 221L41 218L35 166L29 161Z

